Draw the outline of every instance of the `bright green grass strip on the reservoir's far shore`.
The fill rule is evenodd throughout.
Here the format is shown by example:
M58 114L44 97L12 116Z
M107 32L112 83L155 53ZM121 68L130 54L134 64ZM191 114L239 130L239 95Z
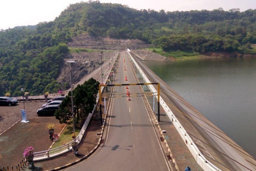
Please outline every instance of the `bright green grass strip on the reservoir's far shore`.
M162 48L146 48L146 50L150 50L152 52L155 52L157 54L160 54L165 57L174 57L174 58L183 58L183 57L192 57L192 56L198 56L198 52L193 51L171 51L171 52L164 52Z

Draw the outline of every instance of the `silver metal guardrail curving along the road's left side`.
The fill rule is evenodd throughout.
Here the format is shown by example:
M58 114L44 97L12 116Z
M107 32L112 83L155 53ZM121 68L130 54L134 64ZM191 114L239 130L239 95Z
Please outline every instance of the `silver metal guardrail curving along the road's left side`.
M114 66L114 62L112 64L112 68L113 68L113 66ZM109 74L110 74L110 72L111 72L111 70L109 71ZM107 82L107 79L108 79L108 77L106 77L104 79L104 81ZM103 91L103 89L104 89L104 87L101 87L101 92ZM35 152L33 161L42 161L42 160L46 160L46 159L49 159L49 158L58 157L58 156L60 156L64 153L67 153L67 152L72 150L72 146L71 146L72 142L80 143L84 134L85 134L86 128L89 125L89 122L91 120L91 117L93 115L93 112L96 108L96 105L97 105L98 101L99 101L99 93L97 94L96 104L94 105L92 113L89 113L89 115L88 115L80 133L78 134L78 136L74 140L72 140L72 141L68 142L67 144L62 145L60 147L56 147L54 149L48 149L48 150L45 150L45 151Z

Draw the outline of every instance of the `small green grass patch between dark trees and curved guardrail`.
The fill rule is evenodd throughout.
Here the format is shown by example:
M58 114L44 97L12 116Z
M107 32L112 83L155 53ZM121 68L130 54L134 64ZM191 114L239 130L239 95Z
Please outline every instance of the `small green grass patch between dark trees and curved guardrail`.
M51 149L60 147L62 145L67 144L68 142L72 141L72 131L73 131L73 119L71 118L68 125L65 127L65 129L62 131L59 137L59 141L56 141ZM76 136L80 133L81 128L75 128ZM56 152L55 152L56 153Z

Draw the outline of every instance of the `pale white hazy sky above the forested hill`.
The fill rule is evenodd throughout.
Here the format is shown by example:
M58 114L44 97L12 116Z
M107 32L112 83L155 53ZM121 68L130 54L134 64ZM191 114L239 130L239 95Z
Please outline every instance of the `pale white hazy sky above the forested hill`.
M69 4L78 2L81 0L1 0L0 30L53 21ZM137 10L156 11L214 10L220 7L225 11L233 8L239 8L240 11L256 9L255 0L100 0L100 2L119 3Z

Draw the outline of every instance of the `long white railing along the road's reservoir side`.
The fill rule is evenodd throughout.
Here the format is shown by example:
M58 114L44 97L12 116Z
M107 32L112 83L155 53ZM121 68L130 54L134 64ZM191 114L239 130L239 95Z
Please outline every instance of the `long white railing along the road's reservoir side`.
M127 50L127 52L130 56L131 61L134 63L134 65L138 69L138 72L141 74L142 78L145 80L145 82L150 83L150 80L147 78L146 74L144 74L140 66L137 64L137 62L129 53L130 52L129 49ZM157 92L157 90L153 85L148 85L148 86L151 92ZM196 162L201 166L201 168L204 170L214 170L214 171L220 170L203 156L203 154L197 148L196 144L193 142L192 138L188 135L184 127L180 124L178 119L175 117L175 115L173 114L171 109L168 107L168 105L164 102L161 96L160 96L160 105L163 107L164 111L167 113L167 116L171 119L176 130L179 132L180 137L183 139L184 143L187 145L189 151L195 158Z

